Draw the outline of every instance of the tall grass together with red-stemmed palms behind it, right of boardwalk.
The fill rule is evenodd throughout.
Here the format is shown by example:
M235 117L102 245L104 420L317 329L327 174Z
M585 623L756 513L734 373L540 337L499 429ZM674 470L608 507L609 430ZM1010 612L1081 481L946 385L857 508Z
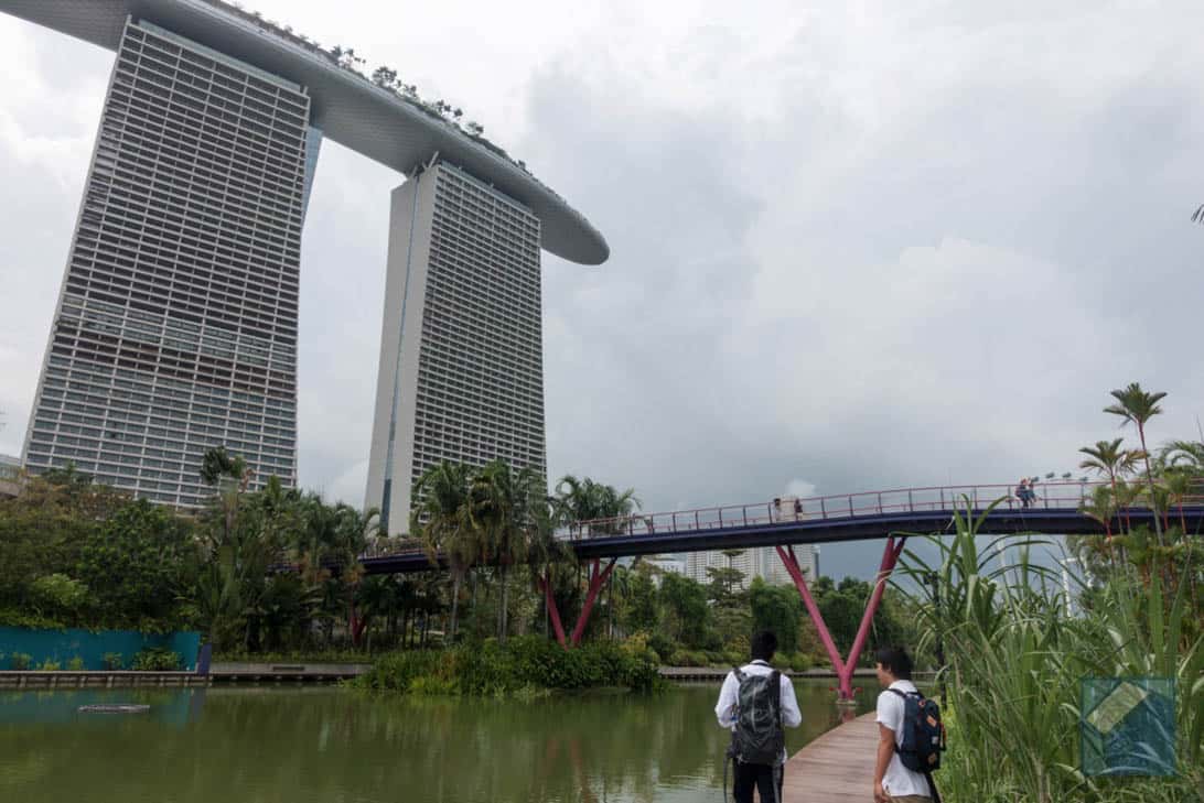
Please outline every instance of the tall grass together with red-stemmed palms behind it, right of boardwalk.
M1129 386L1106 412L1145 424L1162 394ZM1019 563L999 565L1005 545L975 537L982 517L955 519L957 534L933 537L933 566L908 554L915 579L936 572L939 596L915 603L926 646L940 643L940 677L952 710L951 750L942 769L949 799L1184 802L1202 798L1204 736L1204 581L1198 533L1175 508L1204 489L1204 444L1176 441L1158 456L1125 450L1122 439L1082 450L1084 468L1106 487L1084 501L1108 535L1073 539L1088 569L1068 589L1029 561L1044 540L1010 545ZM1138 471L1140 470L1140 474ZM1001 500L997 504L1002 504ZM1198 504L1198 499L1194 500ZM968 506L968 502L967 502ZM1132 527L1134 510L1152 508L1155 528ZM1084 775L1079 756L1084 678L1174 678L1178 774L1167 779ZM1007 756L1007 761L1001 761Z

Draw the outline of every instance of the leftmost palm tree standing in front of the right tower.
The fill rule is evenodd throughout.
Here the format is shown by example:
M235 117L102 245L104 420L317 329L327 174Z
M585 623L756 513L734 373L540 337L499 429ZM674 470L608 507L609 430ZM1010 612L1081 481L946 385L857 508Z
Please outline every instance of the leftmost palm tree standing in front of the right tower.
M448 561L452 575L452 620L448 637L455 640L460 608L460 585L477 563L479 545L468 517L470 469L461 463L442 460L418 478L414 496L419 500L409 514L409 533L423 540L431 564L438 565L438 553Z

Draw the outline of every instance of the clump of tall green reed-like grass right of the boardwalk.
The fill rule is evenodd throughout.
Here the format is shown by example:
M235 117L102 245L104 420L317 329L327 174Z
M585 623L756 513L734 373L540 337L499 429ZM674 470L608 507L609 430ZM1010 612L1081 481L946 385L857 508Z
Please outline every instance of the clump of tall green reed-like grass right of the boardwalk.
M993 507L993 506L992 506ZM968 508L968 505L967 505ZM990 512L990 511L987 511ZM1204 727L1204 647L1187 643L1191 615L1185 589L1147 583L1117 570L1079 585L1080 605L1068 615L1058 578L1029 560L1033 539L982 545L978 519L955 517L956 534L929 536L939 564L908 551L904 576L922 591L919 602L927 649L944 642L950 742L942 793L950 803L1204 802L1200 730ZM985 540L985 539L984 539ZM1019 560L990 569L1001 552ZM937 572L940 603L923 582ZM1171 779L1085 777L1079 767L1079 690L1086 677L1157 676L1178 679L1179 775Z

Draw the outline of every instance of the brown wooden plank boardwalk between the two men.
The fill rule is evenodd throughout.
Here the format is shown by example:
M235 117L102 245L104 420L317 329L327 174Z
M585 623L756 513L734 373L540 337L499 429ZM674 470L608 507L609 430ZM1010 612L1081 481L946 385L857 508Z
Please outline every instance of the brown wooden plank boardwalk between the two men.
M872 803L877 747L874 712L832 728L786 762L781 803Z

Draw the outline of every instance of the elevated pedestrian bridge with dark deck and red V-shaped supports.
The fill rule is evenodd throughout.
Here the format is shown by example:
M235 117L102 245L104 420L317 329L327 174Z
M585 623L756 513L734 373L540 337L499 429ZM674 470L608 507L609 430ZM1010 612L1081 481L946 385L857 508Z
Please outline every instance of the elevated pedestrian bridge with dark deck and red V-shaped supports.
M573 522L557 535L572 545L578 560L589 564L589 585L571 635L566 635L561 621L551 578L541 577L539 587L556 640L567 649L580 643L590 611L620 557L774 547L832 662L838 678L838 698L848 703L856 692L852 677L857 658L908 535L952 531L956 513L980 519L979 534L996 536L1108 534L1122 527L1153 524L1155 512L1147 507L1125 507L1110 519L1086 512L1094 489L1102 484L1105 483L1038 483L1035 496L1025 501L1014 495L1010 484L944 486L814 496L799 499L797 504L779 499ZM1204 524L1204 495L1173 499L1161 517L1168 528L1179 525L1186 533L1199 535ZM811 596L793 546L870 539L885 539L883 558L857 635L848 654L842 655ZM431 559L417 545L362 555L361 564L370 575L432 567Z

